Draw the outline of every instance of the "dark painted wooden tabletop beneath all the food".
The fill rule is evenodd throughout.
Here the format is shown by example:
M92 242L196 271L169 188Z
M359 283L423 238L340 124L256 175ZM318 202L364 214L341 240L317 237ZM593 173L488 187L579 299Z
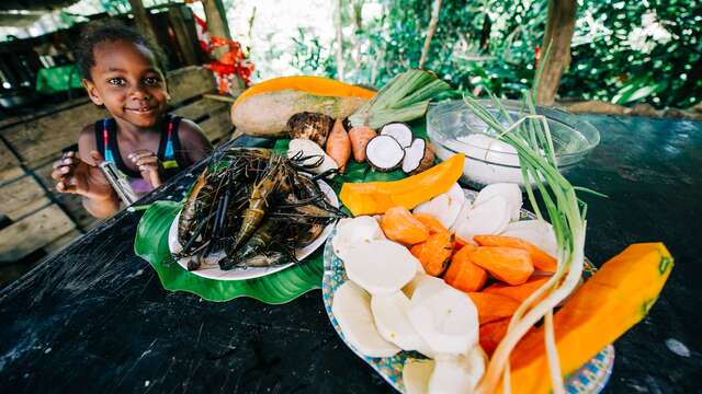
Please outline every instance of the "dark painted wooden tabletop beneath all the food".
M586 254L600 265L663 241L677 263L648 317L614 344L607 392L700 392L702 123L585 117L602 141L568 177L610 196L588 198ZM180 198L193 179L150 199ZM0 290L1 392L390 391L337 336L320 291L274 306L163 290L134 254L139 218L118 213Z

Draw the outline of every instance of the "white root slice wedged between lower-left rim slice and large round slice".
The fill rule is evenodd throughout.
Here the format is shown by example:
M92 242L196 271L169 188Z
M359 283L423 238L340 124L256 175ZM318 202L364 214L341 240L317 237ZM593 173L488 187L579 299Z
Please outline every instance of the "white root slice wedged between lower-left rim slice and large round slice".
M427 347L409 323L407 317L409 299L404 292L373 296L371 311L375 317L375 327L385 340L392 341L403 350L419 350Z

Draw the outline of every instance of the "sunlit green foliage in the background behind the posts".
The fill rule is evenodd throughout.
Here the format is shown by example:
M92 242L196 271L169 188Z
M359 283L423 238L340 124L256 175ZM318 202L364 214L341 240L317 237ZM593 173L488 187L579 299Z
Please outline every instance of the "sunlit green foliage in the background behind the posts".
M383 0L380 16L370 20L362 10L378 1L342 3L346 81L382 85L417 67L432 0ZM547 8L547 0L443 0L424 68L458 90L517 96L531 85ZM295 66L338 78L335 48L298 33ZM571 56L561 99L692 106L702 101L702 3L578 0Z

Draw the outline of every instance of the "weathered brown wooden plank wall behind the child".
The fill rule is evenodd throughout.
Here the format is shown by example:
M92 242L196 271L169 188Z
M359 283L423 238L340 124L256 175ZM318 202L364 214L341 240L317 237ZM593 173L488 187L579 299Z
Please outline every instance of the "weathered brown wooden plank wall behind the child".
M231 135L229 105L203 97L215 90L208 70L186 67L167 78L171 113L199 123L213 142ZM52 253L98 224L79 196L55 192L50 173L64 151L76 149L82 127L106 116L83 99L0 128L0 265Z

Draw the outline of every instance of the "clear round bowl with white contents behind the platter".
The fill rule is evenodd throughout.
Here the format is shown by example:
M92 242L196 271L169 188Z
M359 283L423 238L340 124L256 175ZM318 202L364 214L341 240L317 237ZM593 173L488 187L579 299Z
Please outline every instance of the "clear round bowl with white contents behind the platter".
M509 125L491 101L479 103L503 125ZM513 119L519 119L520 102L502 101L502 105ZM536 113L546 117L562 173L573 169L600 142L597 128L576 115L550 107L536 107ZM465 154L463 179L468 184L478 188L501 182L524 186L517 151L496 141L497 131L473 114L463 101L432 105L427 113L427 134L441 160L458 152Z

